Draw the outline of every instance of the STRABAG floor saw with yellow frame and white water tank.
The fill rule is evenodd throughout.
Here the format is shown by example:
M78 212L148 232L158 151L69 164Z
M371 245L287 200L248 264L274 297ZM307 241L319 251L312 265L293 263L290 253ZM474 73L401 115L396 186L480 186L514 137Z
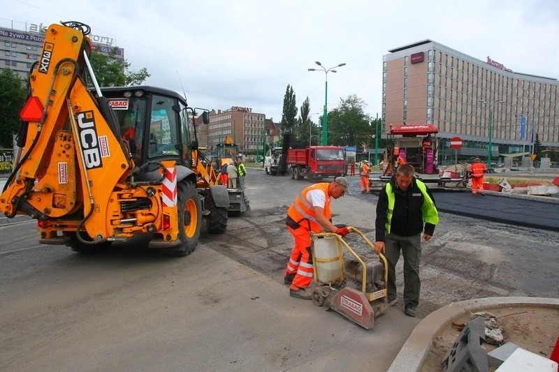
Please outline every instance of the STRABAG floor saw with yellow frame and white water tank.
M355 232L371 247L374 245L356 228ZM388 302L388 263L382 253L375 262L364 262L340 235L311 233L314 283L312 303L327 306L351 322L371 329L375 316L384 313L397 300ZM344 251L349 253L344 257Z

